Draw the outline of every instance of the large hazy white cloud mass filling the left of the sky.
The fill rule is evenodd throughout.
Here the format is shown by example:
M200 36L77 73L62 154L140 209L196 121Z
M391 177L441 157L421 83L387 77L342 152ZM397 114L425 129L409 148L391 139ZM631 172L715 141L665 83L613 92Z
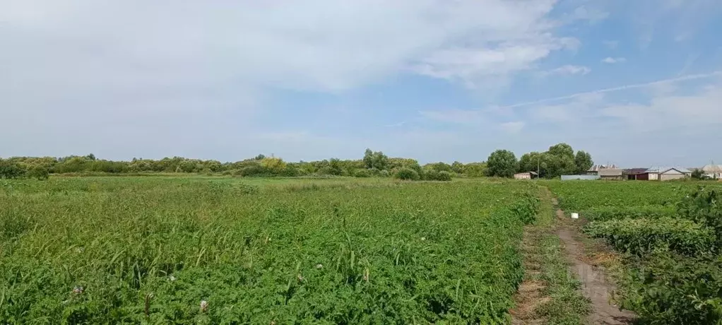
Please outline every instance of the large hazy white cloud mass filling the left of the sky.
M0 0L0 108L18 121L0 139L27 139L0 150L192 156L217 138L276 141L253 134L278 90L340 93L409 71L500 84L578 46L556 34L556 3ZM119 137L126 147L108 145Z

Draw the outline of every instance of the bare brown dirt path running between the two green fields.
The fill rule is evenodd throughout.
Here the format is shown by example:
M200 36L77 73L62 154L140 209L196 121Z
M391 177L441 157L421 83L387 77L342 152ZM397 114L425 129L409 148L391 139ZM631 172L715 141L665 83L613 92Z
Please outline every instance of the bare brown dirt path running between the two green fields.
M552 203L556 209L557 225L559 225L557 235L564 243L567 256L581 282L584 296L591 300L592 311L588 316L588 324L632 324L635 319L634 313L620 311L619 307L612 305L609 293L616 287L606 280L604 269L583 261L585 251L583 243L578 239L578 225L559 209L556 198L552 198Z

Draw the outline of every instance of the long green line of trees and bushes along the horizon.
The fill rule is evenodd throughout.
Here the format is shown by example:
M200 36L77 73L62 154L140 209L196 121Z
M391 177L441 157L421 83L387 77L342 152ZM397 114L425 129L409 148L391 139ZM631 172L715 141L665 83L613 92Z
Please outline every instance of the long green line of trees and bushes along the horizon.
M552 150L552 148L555 148ZM567 150L568 148L568 150ZM383 152L366 149L360 160L331 158L311 162L286 162L279 157L256 157L237 162L199 160L184 157L165 157L160 160L136 159L113 161L97 159L95 155L68 157L10 157L0 158L0 178L46 179L51 174L132 174L132 173L205 173L235 175L243 177L295 177L313 175L338 175L353 177L396 177L409 180L445 181L451 177L511 177L517 171L536 170L537 155L544 155L540 161L542 175L551 177L569 164L576 165L575 157L568 161L571 150L567 144L557 144L549 152L531 152L517 161L512 152L497 150L488 162L432 162L425 165L417 160L388 157ZM570 155L573 155L573 151ZM581 156L580 156L581 155ZM591 156L578 152L591 167ZM534 165L533 169L529 169Z

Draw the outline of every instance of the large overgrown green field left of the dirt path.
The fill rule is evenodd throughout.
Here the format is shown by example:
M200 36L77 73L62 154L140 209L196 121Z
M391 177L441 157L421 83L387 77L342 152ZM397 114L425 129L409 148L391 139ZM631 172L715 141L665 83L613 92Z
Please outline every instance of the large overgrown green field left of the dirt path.
M505 324L528 193L378 178L2 181L0 323Z

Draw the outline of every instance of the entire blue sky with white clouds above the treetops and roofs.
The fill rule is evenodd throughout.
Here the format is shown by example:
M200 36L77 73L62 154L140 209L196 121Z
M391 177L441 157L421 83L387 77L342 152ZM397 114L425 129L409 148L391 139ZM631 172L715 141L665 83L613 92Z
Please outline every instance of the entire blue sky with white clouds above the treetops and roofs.
M0 157L722 162L721 0L0 0Z

